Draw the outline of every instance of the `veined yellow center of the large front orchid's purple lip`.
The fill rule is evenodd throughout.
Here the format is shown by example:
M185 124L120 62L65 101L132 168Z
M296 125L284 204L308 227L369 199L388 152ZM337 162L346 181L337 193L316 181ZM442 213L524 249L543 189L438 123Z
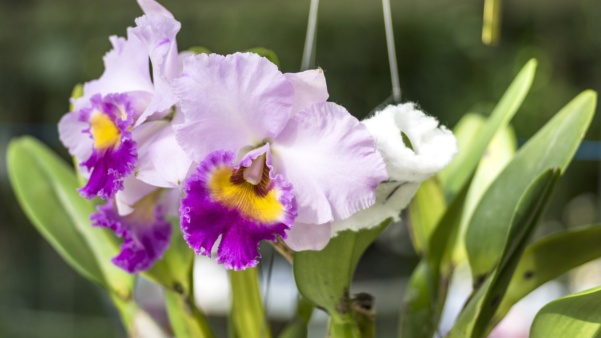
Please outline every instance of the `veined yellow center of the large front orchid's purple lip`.
M269 167L263 166L263 177L257 185L244 179L244 169L222 167L213 171L209 180L211 197L229 210L236 209L246 220L261 223L278 221L284 206L279 203L276 191L269 190Z

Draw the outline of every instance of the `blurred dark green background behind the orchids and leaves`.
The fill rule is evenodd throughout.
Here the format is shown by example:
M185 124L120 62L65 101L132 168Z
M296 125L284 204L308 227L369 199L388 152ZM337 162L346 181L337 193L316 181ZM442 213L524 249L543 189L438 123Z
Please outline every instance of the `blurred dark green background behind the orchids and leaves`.
M180 50L205 46L231 54L261 46L276 52L283 72L299 70L310 0L161 2L182 22ZM505 0L496 47L481 42L482 0L391 0L391 8L403 100L450 128L465 112L489 114L532 57L539 62L534 84L512 121L520 139L531 137L580 91L601 89L599 0ZM0 0L0 336L124 337L99 287L67 266L26 220L4 155L11 137L33 134L68 159L55 124L67 112L73 85L102 74L108 36L125 35L141 15L135 0ZM325 70L329 100L356 117L385 100L391 81L381 2L322 0L316 63ZM600 130L596 117L585 139L599 140ZM574 161L536 236L598 221L598 177L599 162ZM269 260L271 248L261 251ZM362 259L354 288L376 295L378 337L395 336L404 282L416 262L403 224L387 230ZM288 302L270 305L276 333L296 296L287 263L277 256L274 267L270 299ZM599 275L593 262L558 278L540 297L573 292ZM138 297L165 321L153 284L142 280ZM227 298L207 299L201 305L213 307L211 320L225 337ZM324 318L315 315L311 334L323 336Z

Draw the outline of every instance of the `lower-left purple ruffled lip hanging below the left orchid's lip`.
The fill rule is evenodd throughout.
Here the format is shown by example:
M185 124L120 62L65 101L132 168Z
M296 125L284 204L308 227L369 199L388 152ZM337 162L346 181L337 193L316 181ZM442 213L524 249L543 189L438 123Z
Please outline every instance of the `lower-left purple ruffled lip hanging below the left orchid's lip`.
M111 262L130 274L149 269L169 247L172 229L163 216L162 206L156 203L159 192L139 200L127 216L118 214L112 200L96 208L99 214L90 216L93 226L108 227L123 237L121 252Z

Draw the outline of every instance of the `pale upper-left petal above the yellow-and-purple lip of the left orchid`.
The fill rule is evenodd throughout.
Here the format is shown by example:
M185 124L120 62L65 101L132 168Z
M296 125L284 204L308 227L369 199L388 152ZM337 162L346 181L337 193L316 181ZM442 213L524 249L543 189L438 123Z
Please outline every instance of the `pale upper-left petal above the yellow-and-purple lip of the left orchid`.
M148 52L132 29L127 29L127 40L117 35L109 37L113 49L103 57L105 72L99 79L84 84L84 96L73 101L75 111L88 107L90 98L95 94L105 96L141 91L139 99L148 100L154 92L148 70Z

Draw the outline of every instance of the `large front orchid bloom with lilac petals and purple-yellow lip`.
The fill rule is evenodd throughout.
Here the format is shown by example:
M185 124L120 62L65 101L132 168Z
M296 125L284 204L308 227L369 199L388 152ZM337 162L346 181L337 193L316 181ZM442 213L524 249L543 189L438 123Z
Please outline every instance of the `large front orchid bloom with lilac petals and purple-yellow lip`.
M257 54L200 54L172 88L185 115L175 137L199 163L183 185L184 238L210 256L221 235L216 260L228 269L257 265L258 242L291 228L288 240L329 240L329 223L373 204L388 177L365 125L325 102L321 69L282 74Z

